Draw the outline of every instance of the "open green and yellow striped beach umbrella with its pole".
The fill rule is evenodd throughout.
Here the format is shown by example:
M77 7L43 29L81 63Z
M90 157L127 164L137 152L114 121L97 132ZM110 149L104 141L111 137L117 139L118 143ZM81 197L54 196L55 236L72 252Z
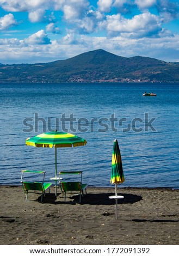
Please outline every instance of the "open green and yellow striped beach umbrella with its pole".
M67 132L45 132L26 139L26 145L42 148L55 148L55 196L57 196L57 148L84 146L87 141Z

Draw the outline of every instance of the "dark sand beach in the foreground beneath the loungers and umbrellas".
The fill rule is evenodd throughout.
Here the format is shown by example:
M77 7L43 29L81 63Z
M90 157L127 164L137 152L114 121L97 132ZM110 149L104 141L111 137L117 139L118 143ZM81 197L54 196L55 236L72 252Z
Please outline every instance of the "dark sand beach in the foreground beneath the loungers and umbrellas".
M67 198L54 188L25 194L21 186L0 186L1 245L179 245L179 190L88 187L87 195Z

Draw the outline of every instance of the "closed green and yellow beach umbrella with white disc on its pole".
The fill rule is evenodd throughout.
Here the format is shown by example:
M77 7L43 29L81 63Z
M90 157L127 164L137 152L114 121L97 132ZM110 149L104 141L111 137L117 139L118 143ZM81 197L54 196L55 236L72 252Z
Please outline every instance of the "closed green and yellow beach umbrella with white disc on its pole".
M117 139L115 139L113 144L113 155L112 155L112 172L111 172L111 178L110 183L115 184L115 196L112 196L110 198L115 199L116 202L116 219L118 218L118 199L124 198L122 196L118 196L117 188L118 184L125 181L123 168L122 168L122 159L121 159L121 153L119 149L119 144Z

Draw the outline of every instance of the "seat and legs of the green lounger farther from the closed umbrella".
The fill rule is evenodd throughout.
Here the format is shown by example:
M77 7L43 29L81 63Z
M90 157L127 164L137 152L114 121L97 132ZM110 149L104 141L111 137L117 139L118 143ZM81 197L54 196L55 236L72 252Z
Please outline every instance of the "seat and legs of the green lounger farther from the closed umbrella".
M28 192L31 190L33 190L34 192L41 191L41 202L42 202L43 196L45 197L45 191L48 189L50 193L50 187L52 185L52 183L48 183L48 182L28 182L28 181L22 181L21 184L24 192L26 193L26 202L27 202Z

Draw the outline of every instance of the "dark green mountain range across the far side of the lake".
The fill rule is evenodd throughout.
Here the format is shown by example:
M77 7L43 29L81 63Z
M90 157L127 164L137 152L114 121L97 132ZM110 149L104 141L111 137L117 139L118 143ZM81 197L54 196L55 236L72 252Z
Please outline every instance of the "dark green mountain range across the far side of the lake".
M95 50L50 63L1 64L0 82L179 82L179 63Z

